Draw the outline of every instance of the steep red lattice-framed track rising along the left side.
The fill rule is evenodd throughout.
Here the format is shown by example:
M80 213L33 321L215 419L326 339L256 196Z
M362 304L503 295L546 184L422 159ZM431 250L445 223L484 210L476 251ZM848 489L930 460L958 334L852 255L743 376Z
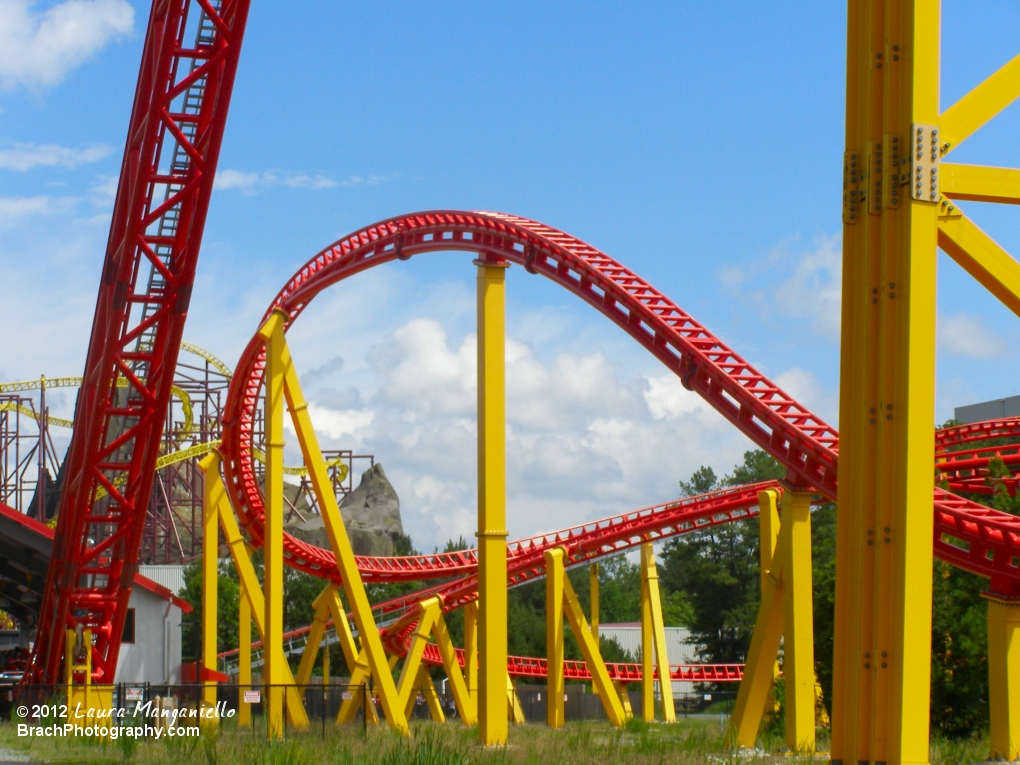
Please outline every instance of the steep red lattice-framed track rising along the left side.
M74 623L113 681L248 7L153 3L29 681L59 680Z

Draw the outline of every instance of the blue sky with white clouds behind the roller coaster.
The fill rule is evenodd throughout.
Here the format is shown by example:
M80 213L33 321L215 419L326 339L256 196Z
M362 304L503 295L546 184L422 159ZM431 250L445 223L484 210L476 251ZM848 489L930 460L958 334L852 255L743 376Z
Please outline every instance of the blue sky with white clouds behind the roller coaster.
M81 372L147 14L0 0L0 379ZM256 0L186 338L233 364L334 240L412 210L501 210L621 260L835 421L845 14ZM1018 52L1018 22L1005 0L946 3L944 107ZM1018 129L1011 108L954 159L1020 166ZM1020 252L1013 210L966 207ZM939 268L940 421L1020 393L1020 333ZM323 440L378 456L423 548L471 528L473 276L463 255L378 269L320 298L292 341L318 370ZM520 269L508 321L512 533L668 499L748 448Z

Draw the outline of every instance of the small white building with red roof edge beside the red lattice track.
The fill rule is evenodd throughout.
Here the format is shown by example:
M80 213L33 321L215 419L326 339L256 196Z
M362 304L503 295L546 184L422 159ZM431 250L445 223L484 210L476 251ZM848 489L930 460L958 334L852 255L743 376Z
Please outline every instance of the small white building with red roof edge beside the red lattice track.
M192 611L177 597L182 590L183 566L139 566L115 682L181 682L181 616Z

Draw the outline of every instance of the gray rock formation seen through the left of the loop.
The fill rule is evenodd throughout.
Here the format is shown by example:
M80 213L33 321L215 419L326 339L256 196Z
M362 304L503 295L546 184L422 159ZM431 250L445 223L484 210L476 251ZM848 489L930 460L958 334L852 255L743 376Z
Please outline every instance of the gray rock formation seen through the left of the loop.
M361 483L340 505L344 527L355 555L393 555L394 542L404 533L400 498L378 462L361 474ZM322 519L313 515L289 523L287 530L309 545L329 549Z

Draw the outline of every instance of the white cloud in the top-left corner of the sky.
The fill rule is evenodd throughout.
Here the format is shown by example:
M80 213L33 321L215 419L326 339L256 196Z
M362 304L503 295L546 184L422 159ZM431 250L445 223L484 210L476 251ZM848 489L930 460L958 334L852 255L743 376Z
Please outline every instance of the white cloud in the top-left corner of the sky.
M125 0L64 0L46 10L30 0L0 0L0 89L46 88L130 33Z

